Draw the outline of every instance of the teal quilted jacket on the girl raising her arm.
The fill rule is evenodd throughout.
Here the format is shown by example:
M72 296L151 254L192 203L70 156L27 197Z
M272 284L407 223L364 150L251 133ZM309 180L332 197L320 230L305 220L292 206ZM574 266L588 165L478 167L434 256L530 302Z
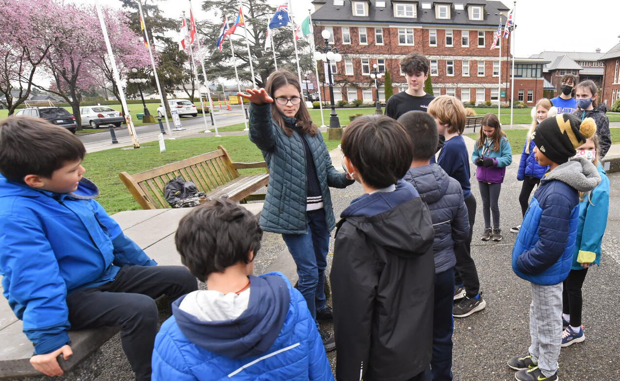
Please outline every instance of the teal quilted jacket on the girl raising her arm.
M250 103L250 141L267 163L269 184L265 205L260 213L260 227L280 234L306 234L306 154L301 136L294 128L295 119L284 117L286 125L295 131L287 137L273 122L271 105ZM344 188L353 181L347 174L336 171L321 133L305 135L316 166L325 220L331 231L336 225L329 187Z

